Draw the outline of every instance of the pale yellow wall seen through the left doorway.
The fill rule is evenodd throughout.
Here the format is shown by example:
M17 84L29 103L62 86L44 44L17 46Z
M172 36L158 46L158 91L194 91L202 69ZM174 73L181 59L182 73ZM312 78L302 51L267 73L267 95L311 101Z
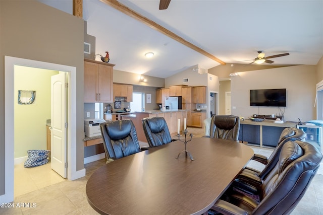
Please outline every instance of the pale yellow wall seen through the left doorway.
M50 119L50 77L58 71L15 66L15 158L27 150L46 150L46 119ZM20 105L18 90L36 91L33 104Z

